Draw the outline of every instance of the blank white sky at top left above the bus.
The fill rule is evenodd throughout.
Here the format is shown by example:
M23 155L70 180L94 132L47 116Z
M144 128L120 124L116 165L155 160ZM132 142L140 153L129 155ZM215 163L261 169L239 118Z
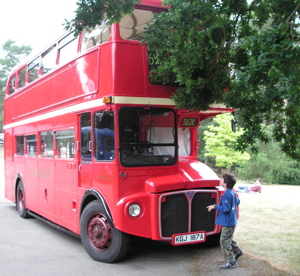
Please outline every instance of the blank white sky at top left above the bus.
M0 48L7 40L39 52L66 31L64 19L75 16L77 0L1 0Z

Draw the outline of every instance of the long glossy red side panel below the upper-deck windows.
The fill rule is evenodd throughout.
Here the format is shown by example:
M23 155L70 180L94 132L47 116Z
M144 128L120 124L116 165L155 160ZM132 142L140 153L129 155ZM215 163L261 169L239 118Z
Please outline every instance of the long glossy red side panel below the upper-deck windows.
M4 124L97 93L98 53L96 48L6 98Z

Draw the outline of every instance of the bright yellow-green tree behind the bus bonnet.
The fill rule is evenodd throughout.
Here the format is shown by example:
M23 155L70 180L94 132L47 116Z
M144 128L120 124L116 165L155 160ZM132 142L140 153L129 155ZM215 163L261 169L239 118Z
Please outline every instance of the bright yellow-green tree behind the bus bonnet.
M231 130L231 114L222 114L214 118L214 124L208 126L204 131L205 156L216 158L216 166L231 169L234 164L243 163L250 159L246 152L241 153L235 150L237 138L243 131Z

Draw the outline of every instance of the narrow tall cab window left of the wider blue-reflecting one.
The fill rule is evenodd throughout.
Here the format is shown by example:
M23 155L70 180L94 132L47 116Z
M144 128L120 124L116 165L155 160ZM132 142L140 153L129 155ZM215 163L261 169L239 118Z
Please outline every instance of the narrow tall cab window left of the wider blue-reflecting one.
M80 116L80 152L82 160L92 160L91 114Z

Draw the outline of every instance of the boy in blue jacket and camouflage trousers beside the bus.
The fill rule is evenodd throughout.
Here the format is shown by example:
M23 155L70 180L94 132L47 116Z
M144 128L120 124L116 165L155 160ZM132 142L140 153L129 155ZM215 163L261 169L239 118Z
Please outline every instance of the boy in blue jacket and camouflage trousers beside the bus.
M220 245L224 253L226 264L221 268L235 268L237 259L243 255L243 251L237 246L233 240L233 233L237 225L237 205L240 200L232 190L236 180L233 175L224 174L220 180L220 185L224 187L225 193L221 198L220 205L209 205L206 208L210 212L215 209L218 211L216 224L222 226Z

